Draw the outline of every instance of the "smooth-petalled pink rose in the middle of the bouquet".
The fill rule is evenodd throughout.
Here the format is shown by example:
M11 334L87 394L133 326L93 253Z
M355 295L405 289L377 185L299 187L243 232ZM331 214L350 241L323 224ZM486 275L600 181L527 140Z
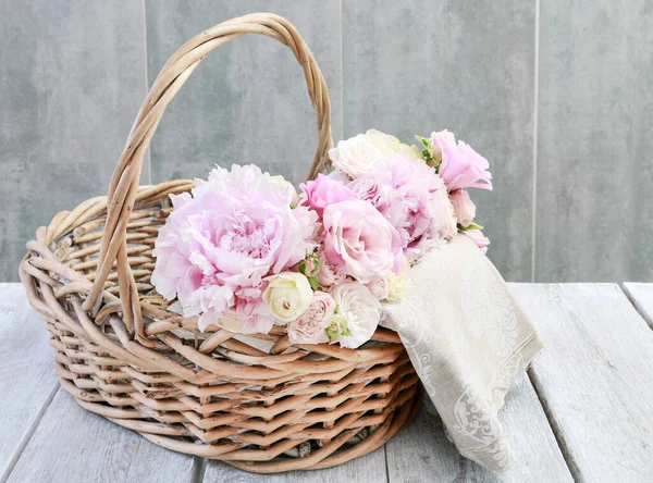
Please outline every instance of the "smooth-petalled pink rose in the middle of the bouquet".
M369 201L329 205L323 225L324 255L345 274L368 283L402 269L399 235Z

